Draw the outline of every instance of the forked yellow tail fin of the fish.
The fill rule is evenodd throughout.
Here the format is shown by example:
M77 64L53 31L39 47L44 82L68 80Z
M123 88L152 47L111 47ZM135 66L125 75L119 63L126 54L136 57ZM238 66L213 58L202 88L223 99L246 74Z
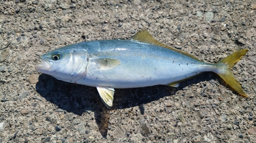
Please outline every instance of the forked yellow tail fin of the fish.
M248 49L242 49L232 53L227 56L225 59L217 62L215 65L222 67L216 73L238 94L243 97L247 97L242 89L240 83L236 78L234 78L233 73L231 72L231 68L236 64L239 60L243 58L243 56L247 53Z

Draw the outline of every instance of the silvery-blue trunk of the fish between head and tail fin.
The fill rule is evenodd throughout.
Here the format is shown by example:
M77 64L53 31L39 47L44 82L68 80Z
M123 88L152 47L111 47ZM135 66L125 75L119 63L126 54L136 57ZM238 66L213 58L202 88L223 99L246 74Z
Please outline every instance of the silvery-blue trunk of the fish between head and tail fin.
M81 42L63 50L70 47L88 51L87 56L81 58L82 61L88 58L88 63L80 78L65 81L92 87L148 87L218 70L217 66L179 52L134 40Z

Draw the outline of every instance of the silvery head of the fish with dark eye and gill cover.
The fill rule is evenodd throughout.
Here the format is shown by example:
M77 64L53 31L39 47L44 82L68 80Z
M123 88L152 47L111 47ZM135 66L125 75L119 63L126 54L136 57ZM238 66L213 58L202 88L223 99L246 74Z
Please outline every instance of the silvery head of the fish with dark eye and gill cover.
M39 60L42 64L35 66L37 71L68 82L85 75L89 61L86 49L67 47L47 52Z

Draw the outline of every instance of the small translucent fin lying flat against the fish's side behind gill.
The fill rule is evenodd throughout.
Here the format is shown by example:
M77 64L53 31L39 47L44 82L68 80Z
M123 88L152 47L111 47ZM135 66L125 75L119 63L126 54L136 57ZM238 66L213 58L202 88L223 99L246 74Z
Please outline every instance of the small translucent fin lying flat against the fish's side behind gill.
M97 59L94 61L96 61L99 64L100 70L113 69L114 67L118 66L121 63L120 60L112 59L112 58Z

